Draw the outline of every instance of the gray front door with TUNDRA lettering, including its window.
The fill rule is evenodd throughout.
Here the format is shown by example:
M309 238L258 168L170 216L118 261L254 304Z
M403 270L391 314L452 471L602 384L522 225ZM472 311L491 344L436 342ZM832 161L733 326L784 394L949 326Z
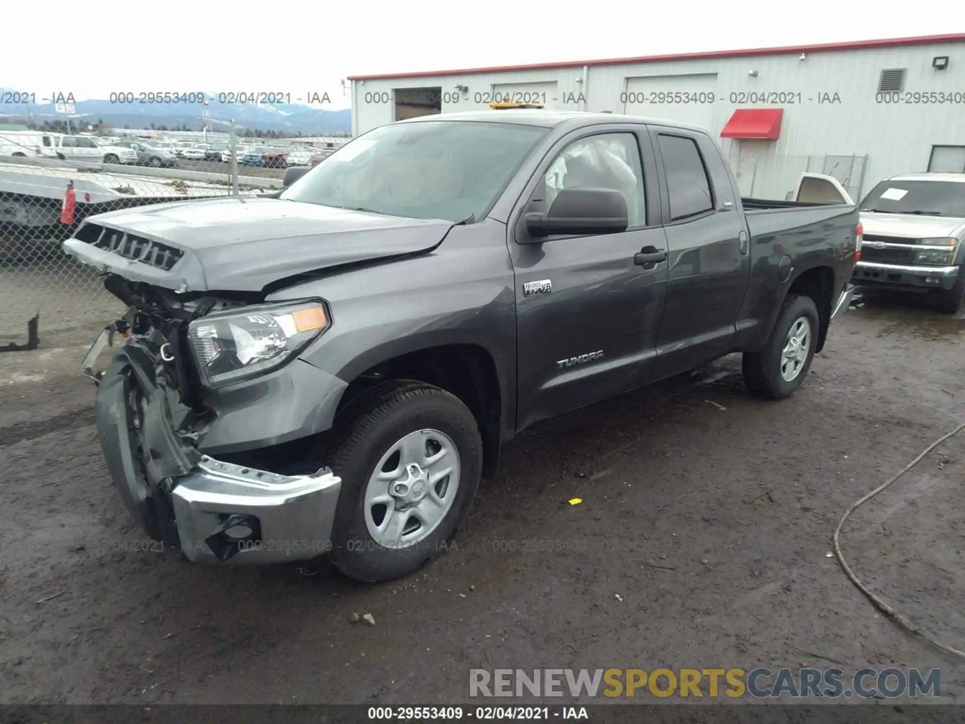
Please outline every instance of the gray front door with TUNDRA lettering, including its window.
M640 386L655 357L667 292L655 161L644 125L582 128L562 139L510 218L515 273L517 430ZM623 194L626 231L528 237L527 210L549 209L561 189Z

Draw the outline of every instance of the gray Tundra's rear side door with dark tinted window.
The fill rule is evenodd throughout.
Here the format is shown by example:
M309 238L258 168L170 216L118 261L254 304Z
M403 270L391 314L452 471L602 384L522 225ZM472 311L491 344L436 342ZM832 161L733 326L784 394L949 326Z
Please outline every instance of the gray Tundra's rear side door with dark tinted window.
M731 350L750 278L750 237L716 144L705 133L650 126L669 249L656 347L660 376Z

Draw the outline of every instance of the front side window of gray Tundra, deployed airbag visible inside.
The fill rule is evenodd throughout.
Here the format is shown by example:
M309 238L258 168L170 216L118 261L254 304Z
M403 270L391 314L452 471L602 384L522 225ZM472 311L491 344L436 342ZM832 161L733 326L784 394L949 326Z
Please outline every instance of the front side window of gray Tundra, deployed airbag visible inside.
M629 228L647 225L640 149L632 133L581 138L565 148L544 176L546 206L565 188L612 188L626 200Z

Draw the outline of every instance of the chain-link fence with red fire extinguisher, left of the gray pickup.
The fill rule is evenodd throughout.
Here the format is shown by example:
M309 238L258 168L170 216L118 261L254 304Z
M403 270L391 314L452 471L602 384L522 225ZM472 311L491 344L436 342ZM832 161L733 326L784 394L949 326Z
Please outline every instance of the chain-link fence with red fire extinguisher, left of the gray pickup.
M130 147L99 148L120 154L119 149ZM37 320L42 339L45 333L100 327L123 313L123 305L104 290L96 269L79 264L62 249L63 241L88 216L189 199L270 193L281 187L288 165L270 160L268 165L256 165L249 159L249 165L199 160L196 168L189 163L165 167L152 158L138 155L126 164L105 164L0 157L0 349L11 343L31 344L31 320ZM311 163L311 158L306 161L305 165ZM221 168L206 172L203 163ZM240 169L236 176L232 167Z

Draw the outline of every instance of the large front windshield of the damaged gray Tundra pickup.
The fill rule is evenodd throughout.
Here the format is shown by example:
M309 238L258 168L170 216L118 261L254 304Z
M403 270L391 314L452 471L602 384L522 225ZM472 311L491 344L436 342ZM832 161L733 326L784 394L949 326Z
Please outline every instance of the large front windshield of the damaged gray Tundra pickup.
M280 198L418 219L481 218L547 130L463 121L383 125L329 155Z

